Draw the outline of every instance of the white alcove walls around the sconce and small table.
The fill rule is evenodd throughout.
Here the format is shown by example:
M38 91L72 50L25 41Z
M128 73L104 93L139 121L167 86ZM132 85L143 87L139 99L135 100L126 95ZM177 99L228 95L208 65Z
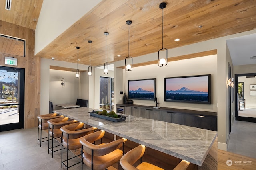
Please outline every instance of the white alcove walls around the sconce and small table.
M87 96L84 96L86 94L86 92L84 92L84 88L88 89L88 84L89 84L89 86L90 86L90 84L94 84L94 82L90 82L90 80L92 80L92 79L87 78L88 77L87 72L84 72L84 73L80 74L80 77L78 78L78 81L80 81L80 80L82 80L82 81L79 82L79 83L76 82L76 80L73 80L73 81L70 80L70 79L73 79L73 76L71 76L71 74L74 74L74 77L75 77L75 72L70 72L69 73L69 72L66 72L66 71L56 70L56 71L53 71L53 72L51 71L52 73L54 73L54 77L50 77L50 66L59 66L59 67L74 68L74 69L77 68L76 63L68 63L68 62L65 62L65 61L56 61L56 60L41 58L40 115L49 113L49 101L50 101L50 99L54 100L54 101L52 101L52 102L54 102L53 105L60 104L59 100L56 100L57 96L55 98L55 96L50 95L51 94L50 87L58 88L59 85L60 85L60 81L58 83L56 81L59 80L60 78L65 78L66 73L67 73L68 78L67 78L67 80L65 78L65 88L64 88L64 90L67 90L66 81L67 81L68 87L70 87L70 88L75 87L75 86L78 87L78 89L77 89L78 94L75 94L76 98L79 97L79 98L82 98L82 99L87 99ZM78 64L78 68L81 69L81 70L87 70L88 66ZM58 75L57 75L57 73L58 73ZM68 76L68 74L70 74L70 75ZM50 79L51 79L51 83L50 83ZM75 77L75 79L76 79L76 77ZM76 84L78 84L78 85L76 85ZM92 86L94 86L94 85L92 85ZM81 87L83 88L82 90L81 90ZM88 93L88 91L87 91L87 93ZM60 94L57 94L57 95L60 95ZM72 94L70 94L70 95L72 96ZM65 97L70 98L70 96L68 96L68 92L66 92ZM63 97L63 99L61 99L61 100L63 100L63 102L64 102L65 97ZM92 97L91 100L94 101L94 96L92 95L91 97ZM56 103L55 103L55 100L56 100ZM70 100L70 102L72 102L72 101L73 100ZM91 103L94 103L94 102L91 102ZM89 104L90 104L90 98L89 98Z

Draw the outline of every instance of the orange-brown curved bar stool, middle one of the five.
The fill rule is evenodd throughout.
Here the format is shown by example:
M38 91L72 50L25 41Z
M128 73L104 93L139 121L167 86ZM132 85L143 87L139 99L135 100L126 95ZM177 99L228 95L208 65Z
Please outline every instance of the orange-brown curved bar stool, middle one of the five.
M84 137L85 135L93 133L97 129L96 127L90 127L87 129L83 129L83 127L84 127L84 123L79 122L79 123L73 123L70 125L65 125L60 128L60 130L62 131L61 168L62 168L62 165L64 165L68 170L68 168L70 168L71 166L74 166L74 165L82 162L82 160L81 160L80 162L77 162L76 164L68 166L68 160L80 156L80 154L79 154L72 158L68 158L68 150L76 150L76 149L81 148L82 145L79 141L81 139L81 137ZM67 149L66 160L63 160L63 147L65 147Z

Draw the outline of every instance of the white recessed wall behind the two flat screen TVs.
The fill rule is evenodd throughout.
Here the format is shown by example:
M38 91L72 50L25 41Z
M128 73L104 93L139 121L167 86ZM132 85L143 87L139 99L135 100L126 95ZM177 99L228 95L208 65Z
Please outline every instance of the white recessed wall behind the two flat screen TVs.
M172 107L180 109L193 109L217 112L217 55L198 57L187 60L168 62L165 67L158 64L134 67L132 72L126 72L125 90L128 94L127 80L156 78L156 97L159 107ZM183 102L164 102L164 78L178 76L195 76L211 74L211 100L212 104L194 104ZM133 100L134 104L155 106L154 100Z

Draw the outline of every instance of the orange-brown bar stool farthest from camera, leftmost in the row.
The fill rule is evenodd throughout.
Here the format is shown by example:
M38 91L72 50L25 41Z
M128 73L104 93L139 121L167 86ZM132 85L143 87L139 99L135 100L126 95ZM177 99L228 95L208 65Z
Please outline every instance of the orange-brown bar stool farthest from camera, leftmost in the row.
M40 147L42 142L48 141L48 140L42 141L42 139L48 138L48 137L42 138L42 130L48 130L49 128L49 124L47 123L47 121L50 119L58 118L58 117L64 117L64 116L58 115L57 113L50 113L45 115L39 115L37 117L38 118L37 144L38 142L40 142ZM40 129L40 138L39 138L39 129Z

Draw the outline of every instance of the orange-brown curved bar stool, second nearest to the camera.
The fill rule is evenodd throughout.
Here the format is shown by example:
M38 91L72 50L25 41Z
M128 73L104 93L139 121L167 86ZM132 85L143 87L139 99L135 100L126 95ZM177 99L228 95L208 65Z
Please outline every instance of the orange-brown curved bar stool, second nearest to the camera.
M116 162L119 162L123 156L123 151L119 148L123 146L127 139L122 138L110 143L102 143L95 145L94 142L98 139L102 139L105 131L96 131L89 135L86 135L80 139L82 144L81 155L82 155L82 169L83 163L90 167L92 170L103 170L112 166ZM82 153L84 151L84 153Z

